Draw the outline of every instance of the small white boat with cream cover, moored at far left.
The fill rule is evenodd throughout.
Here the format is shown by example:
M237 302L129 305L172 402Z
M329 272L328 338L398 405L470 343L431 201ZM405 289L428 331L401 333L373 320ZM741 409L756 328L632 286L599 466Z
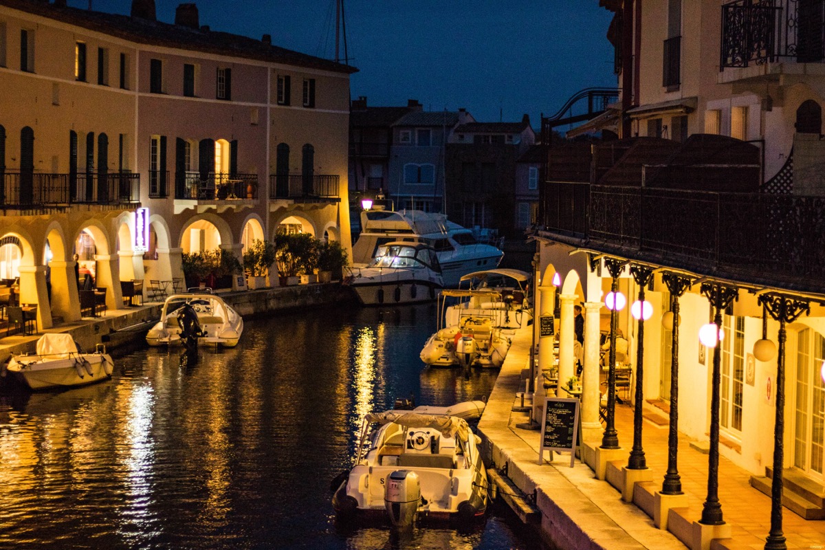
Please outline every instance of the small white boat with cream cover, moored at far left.
M44 334L35 354L12 355L6 369L33 390L70 388L111 378L114 370L106 346L98 344L92 353L83 353L72 335Z

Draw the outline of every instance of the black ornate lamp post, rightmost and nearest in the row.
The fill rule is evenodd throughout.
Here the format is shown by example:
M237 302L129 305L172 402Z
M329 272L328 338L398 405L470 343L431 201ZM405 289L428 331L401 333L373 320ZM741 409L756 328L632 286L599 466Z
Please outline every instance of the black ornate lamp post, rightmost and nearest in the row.
M771 481L771 532L765 539L765 550L785 550L785 534L782 533L782 468L785 460L783 432L785 430L785 323L794 322L802 313L810 311L806 301L781 294L761 294L759 303L779 321L779 351L776 355L776 412L774 424L773 479ZM762 339L766 340L766 328Z

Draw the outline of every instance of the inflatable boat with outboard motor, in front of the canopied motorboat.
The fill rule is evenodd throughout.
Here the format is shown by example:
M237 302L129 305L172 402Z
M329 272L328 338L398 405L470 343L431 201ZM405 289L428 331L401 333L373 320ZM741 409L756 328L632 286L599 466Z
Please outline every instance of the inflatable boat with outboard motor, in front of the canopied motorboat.
M431 366L472 366L498 369L504 364L512 340L490 317L467 315L460 322L436 331L419 354Z

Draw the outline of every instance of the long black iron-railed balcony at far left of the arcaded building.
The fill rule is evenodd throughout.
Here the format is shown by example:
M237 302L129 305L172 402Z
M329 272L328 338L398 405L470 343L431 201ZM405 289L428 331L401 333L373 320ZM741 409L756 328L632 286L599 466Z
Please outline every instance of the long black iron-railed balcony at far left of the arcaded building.
M72 204L132 207L140 204L140 175L131 172L45 174L5 172L0 207L53 209Z

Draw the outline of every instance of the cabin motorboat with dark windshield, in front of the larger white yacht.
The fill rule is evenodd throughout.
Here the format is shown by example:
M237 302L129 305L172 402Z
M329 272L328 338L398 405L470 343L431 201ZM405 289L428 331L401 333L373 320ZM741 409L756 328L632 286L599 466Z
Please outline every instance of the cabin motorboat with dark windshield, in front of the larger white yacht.
M387 242L349 272L344 282L364 305L429 302L444 287L436 251L423 242Z

